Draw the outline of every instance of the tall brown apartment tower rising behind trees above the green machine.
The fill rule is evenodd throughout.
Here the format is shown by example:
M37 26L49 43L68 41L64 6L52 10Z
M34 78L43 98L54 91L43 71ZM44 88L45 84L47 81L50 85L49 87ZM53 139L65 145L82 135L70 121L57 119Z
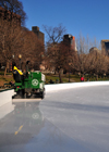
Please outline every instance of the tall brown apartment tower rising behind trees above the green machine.
M34 31L37 35L38 39L43 43L45 43L45 34L39 30L39 27L38 26L33 26L32 27L32 31Z

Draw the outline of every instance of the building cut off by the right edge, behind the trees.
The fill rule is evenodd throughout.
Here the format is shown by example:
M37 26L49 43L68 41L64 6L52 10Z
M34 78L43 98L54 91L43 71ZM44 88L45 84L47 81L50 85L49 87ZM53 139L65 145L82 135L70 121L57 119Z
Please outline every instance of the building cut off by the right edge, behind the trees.
M101 40L101 52L109 55L109 39Z

